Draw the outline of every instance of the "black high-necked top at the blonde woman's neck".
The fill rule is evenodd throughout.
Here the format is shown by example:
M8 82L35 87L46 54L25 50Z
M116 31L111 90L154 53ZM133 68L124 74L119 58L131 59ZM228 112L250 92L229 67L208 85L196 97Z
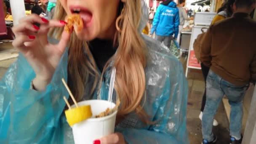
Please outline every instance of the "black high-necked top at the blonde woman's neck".
M89 42L89 48L97 67L102 72L107 61L115 54L117 48L113 46L112 40L94 39Z

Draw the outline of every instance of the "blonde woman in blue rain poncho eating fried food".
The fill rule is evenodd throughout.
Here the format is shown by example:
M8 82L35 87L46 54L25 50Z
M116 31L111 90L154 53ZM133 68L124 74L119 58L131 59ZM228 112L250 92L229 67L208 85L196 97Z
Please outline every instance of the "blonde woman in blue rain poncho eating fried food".
M94 144L188 144L183 67L141 33L144 9L141 0L58 0L53 20L21 19L13 27L20 56L0 81L0 143L74 144L61 78L76 101L107 100L115 67L114 97L121 101L115 133ZM82 17L83 29L66 32L72 13Z

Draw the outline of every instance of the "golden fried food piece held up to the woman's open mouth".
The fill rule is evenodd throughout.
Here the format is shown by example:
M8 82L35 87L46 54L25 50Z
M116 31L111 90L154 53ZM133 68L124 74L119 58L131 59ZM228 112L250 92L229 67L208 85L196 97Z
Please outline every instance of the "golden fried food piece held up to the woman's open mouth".
M83 20L82 20L81 16L77 13L74 13L74 14L68 16L67 24L64 27L64 30L69 33L69 32L71 32L74 25L76 25L76 30L78 32L83 29Z

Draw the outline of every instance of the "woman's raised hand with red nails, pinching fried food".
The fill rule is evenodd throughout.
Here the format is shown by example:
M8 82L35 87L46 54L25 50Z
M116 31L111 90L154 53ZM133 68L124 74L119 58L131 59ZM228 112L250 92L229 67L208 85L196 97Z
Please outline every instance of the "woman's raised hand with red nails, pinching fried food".
M40 28L33 23L39 23ZM50 44L47 39L49 29L64 27L65 24L65 21L48 21L32 14L21 19L19 25L12 29L16 37L13 46L21 51L34 69L36 77L33 80L33 85L38 91L45 90L51 82L70 37L70 34L64 31L59 44Z

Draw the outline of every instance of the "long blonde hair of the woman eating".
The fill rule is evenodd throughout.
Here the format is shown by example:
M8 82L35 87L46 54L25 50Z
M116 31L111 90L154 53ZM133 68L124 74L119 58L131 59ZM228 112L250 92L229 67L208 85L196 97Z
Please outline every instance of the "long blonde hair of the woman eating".
M58 1L53 19L64 20L66 15ZM112 56L105 65L102 75L109 67L110 61L114 61L114 67L117 69L115 91L122 102L117 115L123 117L135 111L145 123L149 123L148 116L141 105L146 85L144 68L147 64L146 44L138 31L141 16L141 0L127 0L118 18L120 21L117 22L120 32L116 31L114 42L118 48L115 56ZM54 34L59 39L62 31L63 28L57 28L51 31L50 35ZM88 43L79 40L74 32L68 48L68 84L76 100L81 101L88 77L95 78L91 90L93 94L97 84L101 83L99 80L102 80L102 76L97 71Z

